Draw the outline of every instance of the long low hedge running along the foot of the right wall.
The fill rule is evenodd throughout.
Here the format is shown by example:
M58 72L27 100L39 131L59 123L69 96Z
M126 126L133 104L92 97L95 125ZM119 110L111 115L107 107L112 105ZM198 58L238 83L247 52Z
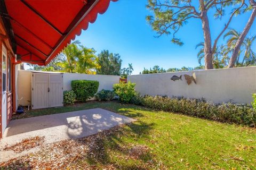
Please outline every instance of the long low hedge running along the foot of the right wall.
M134 95L130 103L219 122L256 126L256 112L250 105L232 103L217 105L203 99L141 96L139 94Z

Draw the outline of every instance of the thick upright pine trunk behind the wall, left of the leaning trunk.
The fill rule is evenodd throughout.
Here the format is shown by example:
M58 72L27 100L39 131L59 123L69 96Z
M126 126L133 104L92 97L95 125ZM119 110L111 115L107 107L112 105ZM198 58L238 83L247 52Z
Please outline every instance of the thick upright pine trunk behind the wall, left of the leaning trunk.
M205 70L213 69L212 63L212 40L207 11L202 11L202 28L204 32L204 62Z

